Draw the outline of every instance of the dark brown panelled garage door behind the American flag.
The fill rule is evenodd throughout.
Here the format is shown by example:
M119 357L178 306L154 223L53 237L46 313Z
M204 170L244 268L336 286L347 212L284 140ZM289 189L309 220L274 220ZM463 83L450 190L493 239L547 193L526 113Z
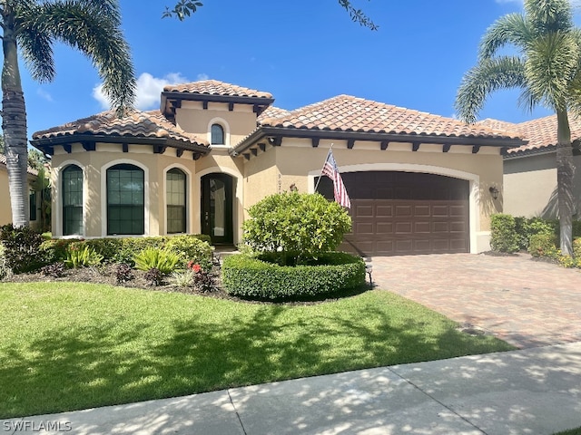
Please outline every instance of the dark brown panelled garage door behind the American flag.
M467 180L395 171L341 176L353 219L341 249L362 256L469 252ZM330 179L318 190L333 198Z

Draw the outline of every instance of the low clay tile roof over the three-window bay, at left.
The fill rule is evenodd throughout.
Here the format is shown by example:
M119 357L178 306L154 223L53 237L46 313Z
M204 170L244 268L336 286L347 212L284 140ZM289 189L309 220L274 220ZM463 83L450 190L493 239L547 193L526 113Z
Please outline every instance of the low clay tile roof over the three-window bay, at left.
M36 131L33 140L43 140L77 134L129 136L142 138L171 138L190 144L208 146L208 142L182 131L168 121L160 111L133 111L117 118L114 111L103 111L88 118L68 122L44 131Z

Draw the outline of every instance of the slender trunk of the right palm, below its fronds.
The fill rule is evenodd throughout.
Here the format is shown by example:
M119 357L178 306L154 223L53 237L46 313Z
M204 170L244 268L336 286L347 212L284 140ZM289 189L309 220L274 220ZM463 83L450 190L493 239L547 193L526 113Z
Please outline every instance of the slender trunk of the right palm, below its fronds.
M573 147L571 131L566 111L556 111L556 186L558 193L558 213L561 252L573 256Z

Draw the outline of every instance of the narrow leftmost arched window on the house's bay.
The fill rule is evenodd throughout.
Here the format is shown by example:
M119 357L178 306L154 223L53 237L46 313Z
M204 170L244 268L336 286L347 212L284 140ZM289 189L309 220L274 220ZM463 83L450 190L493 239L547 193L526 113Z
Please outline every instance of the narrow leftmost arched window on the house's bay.
M83 234L83 169L76 165L64 168L63 236Z

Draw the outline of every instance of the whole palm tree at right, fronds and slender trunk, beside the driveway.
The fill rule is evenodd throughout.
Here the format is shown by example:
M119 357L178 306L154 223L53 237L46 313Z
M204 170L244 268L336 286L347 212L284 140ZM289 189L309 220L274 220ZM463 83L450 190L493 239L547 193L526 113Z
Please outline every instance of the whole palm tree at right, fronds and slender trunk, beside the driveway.
M498 53L516 49L516 55ZM581 113L581 31L568 0L525 0L525 14L507 14L488 29L478 64L464 76L456 97L463 121L476 121L487 96L518 88L528 110L540 104L556 112L556 169L561 251L572 255L573 148L569 113Z

